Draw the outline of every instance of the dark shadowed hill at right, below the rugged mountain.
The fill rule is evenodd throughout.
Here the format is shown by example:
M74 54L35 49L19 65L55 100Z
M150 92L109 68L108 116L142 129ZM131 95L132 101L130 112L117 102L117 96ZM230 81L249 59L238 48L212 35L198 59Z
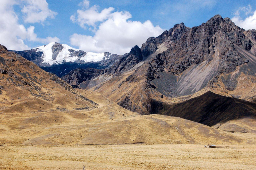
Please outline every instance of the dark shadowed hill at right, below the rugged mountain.
M215 94L211 91L173 106L164 115L180 117L207 126L244 117L256 117L256 104Z

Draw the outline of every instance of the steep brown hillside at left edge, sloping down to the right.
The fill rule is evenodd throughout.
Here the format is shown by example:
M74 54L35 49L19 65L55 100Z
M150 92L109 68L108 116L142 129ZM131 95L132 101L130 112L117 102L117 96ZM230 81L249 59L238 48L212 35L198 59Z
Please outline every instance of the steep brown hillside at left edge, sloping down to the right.
M56 75L7 51L3 45L0 46L0 70L0 113L5 117L1 125L8 126L9 121L29 121L31 118L41 118L42 124L49 125L55 123L54 120L63 119L63 116L55 113L93 110L97 107L95 102L82 96ZM49 114L46 116L44 113ZM32 122L24 126L31 126ZM19 123L12 126L14 129L22 128Z

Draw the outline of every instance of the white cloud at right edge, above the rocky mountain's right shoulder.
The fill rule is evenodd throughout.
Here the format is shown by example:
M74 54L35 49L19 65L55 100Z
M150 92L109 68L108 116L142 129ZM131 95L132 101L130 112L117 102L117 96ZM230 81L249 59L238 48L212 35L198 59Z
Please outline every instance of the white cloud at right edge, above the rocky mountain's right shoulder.
M256 29L256 10L251 12L252 8L250 5L247 7L241 7L234 14L235 16L231 18L231 20L239 27L245 30ZM240 12L244 12L247 16L245 19L242 19L240 16ZM249 15L251 14L251 15ZM249 16L248 16L249 15Z

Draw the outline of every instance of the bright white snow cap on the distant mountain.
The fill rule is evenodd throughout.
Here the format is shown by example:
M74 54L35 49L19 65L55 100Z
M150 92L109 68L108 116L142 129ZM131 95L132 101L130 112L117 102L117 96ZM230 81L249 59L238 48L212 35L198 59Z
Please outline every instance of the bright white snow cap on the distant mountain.
M84 52L80 49L72 48L67 44L60 44L57 42L51 42L47 45L39 46L36 48L36 52L43 52L41 57L42 63L53 65L61 64L63 62L97 62L101 60L106 60L110 58L110 53L94 53L94 52Z

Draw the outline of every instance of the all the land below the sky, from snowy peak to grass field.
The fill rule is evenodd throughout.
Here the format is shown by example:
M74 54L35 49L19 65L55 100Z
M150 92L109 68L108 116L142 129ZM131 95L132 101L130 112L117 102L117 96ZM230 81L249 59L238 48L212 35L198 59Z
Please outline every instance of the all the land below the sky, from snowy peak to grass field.
M255 169L255 37L215 15L123 55L0 45L0 169Z

